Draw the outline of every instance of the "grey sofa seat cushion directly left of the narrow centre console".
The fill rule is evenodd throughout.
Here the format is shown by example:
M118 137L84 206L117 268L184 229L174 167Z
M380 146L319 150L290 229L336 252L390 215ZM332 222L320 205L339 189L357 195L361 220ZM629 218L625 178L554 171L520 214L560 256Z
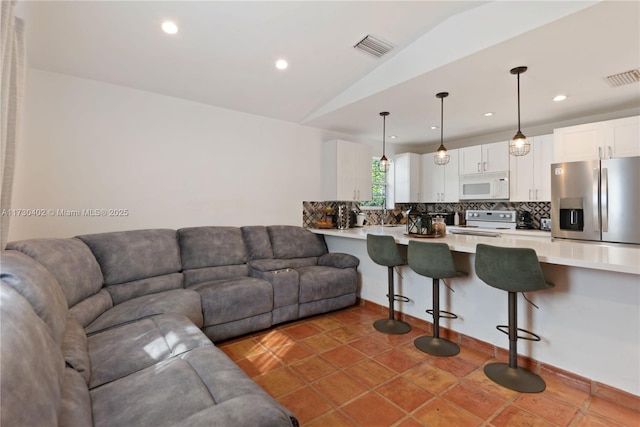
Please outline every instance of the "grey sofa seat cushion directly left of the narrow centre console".
M202 296L204 326L245 319L273 310L273 288L266 280L245 277L201 283L189 289Z

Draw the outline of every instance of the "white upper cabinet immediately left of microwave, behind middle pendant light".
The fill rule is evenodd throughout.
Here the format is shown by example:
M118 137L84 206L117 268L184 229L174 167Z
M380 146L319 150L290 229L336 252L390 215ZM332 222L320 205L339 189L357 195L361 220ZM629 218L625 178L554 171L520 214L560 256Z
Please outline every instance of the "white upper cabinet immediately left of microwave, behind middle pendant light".
M461 150L447 150L449 163L436 165L436 153L422 155L422 201L425 203L458 202L458 161Z

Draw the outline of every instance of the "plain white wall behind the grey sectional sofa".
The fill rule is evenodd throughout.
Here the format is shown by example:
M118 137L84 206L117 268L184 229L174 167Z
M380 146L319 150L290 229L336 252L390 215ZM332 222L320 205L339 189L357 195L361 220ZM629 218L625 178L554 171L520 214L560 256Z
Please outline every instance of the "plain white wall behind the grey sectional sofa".
M274 100L274 102L278 102ZM9 240L302 222L320 198L318 129L30 69ZM51 210L128 209L125 217Z

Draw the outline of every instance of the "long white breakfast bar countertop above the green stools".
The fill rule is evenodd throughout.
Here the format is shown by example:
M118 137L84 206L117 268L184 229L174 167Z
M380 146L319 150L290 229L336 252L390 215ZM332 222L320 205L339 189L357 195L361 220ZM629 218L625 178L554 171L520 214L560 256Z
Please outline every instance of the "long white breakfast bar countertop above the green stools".
M447 227L447 231L455 226ZM462 230L462 228L460 228ZM640 245L618 245L599 242L553 240L549 232L539 230L495 230L500 237L469 236L448 232L436 239L414 238L404 234L405 227L365 226L361 228L310 229L326 236L365 240L368 233L393 236L397 243L408 245L409 240L441 242L456 252L475 253L478 243L514 248L531 248L540 262L615 271L640 275Z

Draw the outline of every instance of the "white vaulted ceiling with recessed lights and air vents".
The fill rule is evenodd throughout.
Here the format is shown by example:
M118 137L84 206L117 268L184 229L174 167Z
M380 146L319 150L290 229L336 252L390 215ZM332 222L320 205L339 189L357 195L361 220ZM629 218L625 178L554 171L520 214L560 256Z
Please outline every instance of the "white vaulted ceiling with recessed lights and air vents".
M31 67L399 144L640 111L636 1L28 1ZM165 20L179 31L161 31ZM354 49L366 35L394 48ZM277 70L277 59L289 67ZM551 99L567 95L563 102ZM485 117L484 113L494 113Z

